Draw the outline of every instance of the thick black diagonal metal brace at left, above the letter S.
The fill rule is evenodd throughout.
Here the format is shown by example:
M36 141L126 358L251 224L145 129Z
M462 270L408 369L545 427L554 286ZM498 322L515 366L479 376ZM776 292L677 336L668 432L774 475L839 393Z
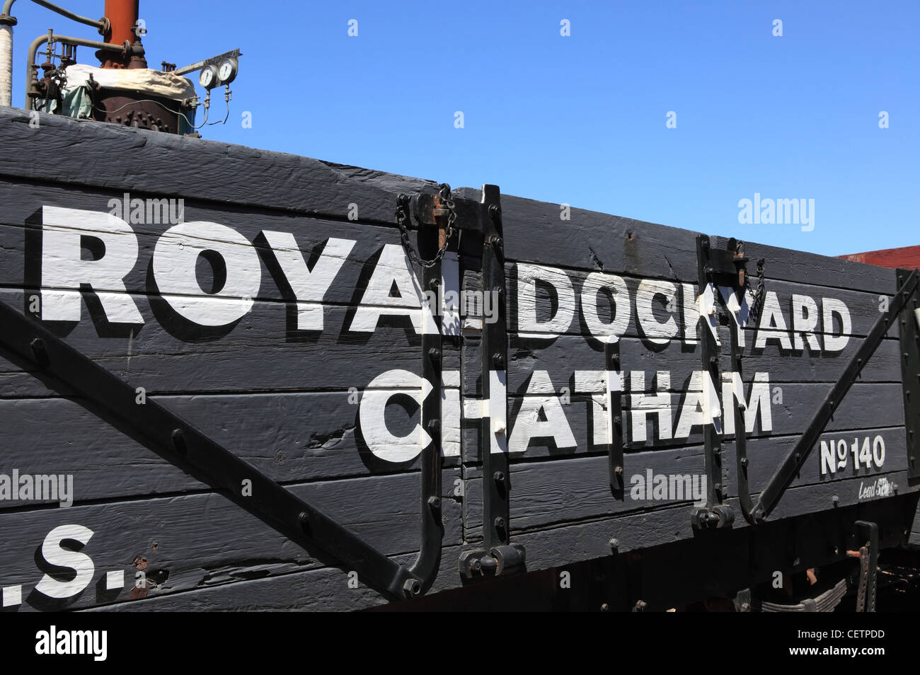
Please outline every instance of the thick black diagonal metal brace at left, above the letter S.
M220 491L313 555L316 546L358 572L391 600L419 592L420 581L354 532L271 480L233 452L151 399L136 403L134 387L81 354L8 303L0 302L0 353L52 389L74 392L84 405L167 462ZM251 481L251 496L240 487Z

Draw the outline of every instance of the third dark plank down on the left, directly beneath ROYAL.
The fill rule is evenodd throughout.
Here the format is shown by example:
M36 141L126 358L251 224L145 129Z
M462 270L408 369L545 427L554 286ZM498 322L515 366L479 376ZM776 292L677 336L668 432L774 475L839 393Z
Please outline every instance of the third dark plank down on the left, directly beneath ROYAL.
M327 306L324 329L307 333L291 329L291 313L283 303L254 302L235 325L208 331L190 326L155 298L131 298L143 326L111 330L105 321L88 319L45 325L148 394L361 390L383 372L421 372L421 336L408 318L384 318L373 333L353 332L353 312ZM28 314L28 293L0 290L0 302ZM444 369L459 370L459 352L449 344ZM34 378L5 377L20 372L17 365L0 360L3 396L47 395L48 388Z

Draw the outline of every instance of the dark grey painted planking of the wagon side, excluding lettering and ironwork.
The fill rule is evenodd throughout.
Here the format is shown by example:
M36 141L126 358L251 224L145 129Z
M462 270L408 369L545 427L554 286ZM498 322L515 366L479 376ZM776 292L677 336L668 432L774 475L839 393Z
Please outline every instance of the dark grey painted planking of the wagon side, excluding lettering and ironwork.
M233 228L256 246L259 255L259 292L251 311L234 326L202 330L169 311L150 279L153 251L168 225L132 223L138 258L124 282L144 324L126 327L101 321L96 292L108 289L99 288L84 293L81 321L52 327L68 344L126 381L143 386L147 395L259 471L298 496L316 500L319 508L386 555L410 564L419 547L418 459L385 462L368 452L358 419L360 403L353 401L360 402L368 384L383 372L420 374L420 335L405 318L385 320L373 333L349 328L375 258L383 246L399 246L393 217L397 194L432 191L435 183L44 114L39 129L28 122L21 111L0 109L0 302L40 320L30 313L29 301L40 288L36 243L40 244L42 206L108 212L110 199L130 192L132 198L183 199L187 222L209 221ZM109 159L128 154L130 163ZM484 176L483 182L489 182L489 177ZM455 194L478 200L480 193L458 189ZM357 219L351 220L354 209ZM827 528L844 528L859 514L882 521L889 530L907 532L904 543L916 543L920 535L915 523L920 519L912 524L916 504L905 506L905 499L916 498L920 486L911 485L904 473L903 375L896 332L883 341L822 434L822 440L844 440L847 445L854 439L861 443L863 438L881 436L884 463L858 469L849 463L829 475L822 473L821 452L816 448L771 517L774 522L752 535L764 549L763 555L755 556L763 560L763 568L738 555L728 539L697 536L690 524L692 504L686 499L632 498L634 475L704 471L698 425L675 440L656 438L656 425L649 423L649 440L630 440L631 415L637 407L633 395L654 393L655 373L669 372L666 393L676 425L691 375L700 370L699 347L686 339L696 337L692 329L698 292L696 233L577 208L570 210L568 220L563 214L563 205L502 196L507 310L512 317L508 360L512 439L517 412L525 403L566 396L561 409L575 441L571 447L559 448L549 439L535 438L523 452L510 456L512 541L526 547L529 570L606 558L613 553L611 539L620 553L642 550L643 555L661 555L662 560L674 556L668 552L677 551L675 546L686 547L680 548L684 557L696 559L695 551L703 550L694 548L699 546L707 555L729 561L722 566L701 565L700 574L709 570L713 577L698 579L699 583L715 589L721 588L719 584L727 586L730 579L740 588L753 579L770 578L773 554L767 552L778 548L779 541L787 541L788 532L803 532L802 542L814 539L805 535L808 528L801 523L818 519ZM323 297L321 332L296 329L292 292L272 265L264 231L293 235L310 265L330 237L355 242ZM713 242L724 244L719 237L713 237ZM477 291L481 252L465 241L460 250L464 288ZM781 402L777 397L771 404L773 428L765 431L756 426L748 442L751 488L759 490L858 348L885 296L894 292L894 277L891 270L755 243L747 244L746 253L754 261L766 258L765 288L776 293L790 331L793 295L808 296L819 308L823 299L843 302L852 318L852 336L844 349L833 352L785 349L776 339L754 349L757 331L745 329L744 382L750 383L756 372L768 372L771 399L776 387L781 390ZM562 309L571 310L573 318L558 331L561 335L536 330L536 336L528 337L516 325L520 282L532 265L548 269L550 279L556 275L572 285L574 305ZM610 494L605 445L595 442L593 433L593 426L604 422L603 408L575 387L575 372L604 370L604 344L590 334L581 308L582 286L596 272L623 278L630 297L630 324L619 345L627 385L622 500ZM420 277L420 269L415 273ZM643 280L665 287L673 284L676 292L670 310L661 296L652 303L656 320L673 316L678 326L677 335L666 345L652 342L638 324L636 292ZM602 322L610 321L614 307L605 304L603 297L593 300L598 301ZM558 298L554 300L554 293L542 285L535 311L541 319L558 311ZM687 322L691 322L689 331ZM820 345L825 333L835 333L838 327L828 329L819 322L814 333ZM455 393L459 387L466 398L459 407L472 406L475 411L474 399L481 393L481 325L467 321L462 336L444 340L443 369L456 373L446 388ZM646 379L632 391L636 372L644 372ZM70 393L49 389L35 374L0 358L0 425L6 429L0 475L13 469L34 475L73 475L75 505L60 509L48 498L0 500L0 542L4 543L0 587L21 587L24 602L14 609L354 610L383 602L360 579L353 588L349 570L341 562L283 540L221 494L109 428ZM357 399L351 397L350 387L358 393ZM443 409L447 406L443 401ZM465 416L455 434L462 455L445 458L444 549L432 592L462 585L457 556L481 541L477 417ZM386 407L383 423L390 432L402 435L418 418L417 404L402 400ZM413 443L409 438L406 446ZM724 444L721 477L728 503L737 509L731 448L730 442ZM876 491L869 494L873 486ZM882 489L891 489L891 494L880 494ZM838 518L840 514L846 515ZM771 528L784 522L788 532L771 538L769 532L777 532ZM92 559L94 573L86 589L49 601L33 590L44 573L37 565L42 559L40 547L49 532L66 524L93 531L83 552ZM734 531L727 537L745 536L748 526L736 519ZM835 559L828 554L810 555L814 565ZM151 583L145 598L132 600L132 579L144 564ZM661 563L655 569L661 575L669 567ZM124 573L120 590L105 589L109 571ZM691 589L697 592L690 579L680 574L669 583L667 592L673 597L689 596Z

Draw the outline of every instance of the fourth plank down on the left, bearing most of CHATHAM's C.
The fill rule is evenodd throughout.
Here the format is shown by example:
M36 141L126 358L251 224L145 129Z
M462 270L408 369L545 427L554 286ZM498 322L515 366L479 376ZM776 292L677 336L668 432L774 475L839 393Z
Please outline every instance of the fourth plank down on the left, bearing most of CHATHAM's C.
M385 423L402 437L398 448L412 459L391 462L368 447L361 398L347 392L261 395L152 396L228 451L282 483L336 477L395 474L418 469L418 404L403 398L385 408ZM113 428L78 401L65 398L0 400L6 429L3 474L70 475L77 503L139 498L205 489L142 443ZM373 429L372 429L373 431ZM449 452L449 449L448 449ZM445 465L459 456L444 457ZM56 493L55 493L56 495ZM22 509L59 498L0 500L0 509Z

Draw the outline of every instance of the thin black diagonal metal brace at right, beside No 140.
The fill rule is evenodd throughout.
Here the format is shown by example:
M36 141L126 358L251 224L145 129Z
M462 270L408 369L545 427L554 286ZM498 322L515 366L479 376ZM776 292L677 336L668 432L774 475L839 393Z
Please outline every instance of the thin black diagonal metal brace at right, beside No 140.
M795 447L788 453L783 463L779 465L776 474L770 478L770 482L766 485L764 491L760 493L757 503L753 505L753 509L749 514L753 522L764 521L776 508L776 504L786 492L786 488L799 473L811 451L814 450L815 443L818 442L818 438L827 423L834 416L834 411L840 406L840 402L844 399L850 386L856 381L859 373L868 363L872 354L875 353L875 350L879 349L882 339L885 338L891 324L897 320L903 306L917 291L918 283L920 283L920 272L914 269L907 280L904 281L903 286L894 294L891 303L889 303L888 311L880 315L875 325L868 332L868 336L863 339L863 343L857 353L846 364L843 374L824 398L824 403L815 413L814 418L811 419L808 429L805 429Z

